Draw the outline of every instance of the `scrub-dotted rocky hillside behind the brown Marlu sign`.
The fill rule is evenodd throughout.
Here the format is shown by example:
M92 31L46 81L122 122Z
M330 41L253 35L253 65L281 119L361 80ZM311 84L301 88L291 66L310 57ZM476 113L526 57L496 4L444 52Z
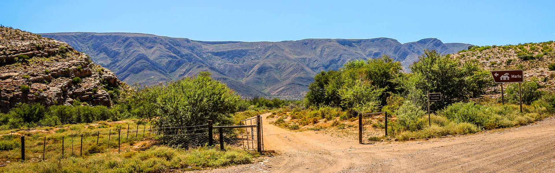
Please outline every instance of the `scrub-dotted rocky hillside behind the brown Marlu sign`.
M460 58L463 61L476 61L487 70L522 69L525 80L537 78L541 90L555 91L555 69L549 70L548 68L549 64L555 63L554 48L553 41L503 46L474 46L468 51L462 50L451 54L451 57Z

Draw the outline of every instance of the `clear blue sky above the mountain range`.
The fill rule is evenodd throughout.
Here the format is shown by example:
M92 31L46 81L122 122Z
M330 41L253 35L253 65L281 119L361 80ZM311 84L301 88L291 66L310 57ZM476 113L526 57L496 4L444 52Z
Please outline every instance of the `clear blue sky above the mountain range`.
M33 33L134 32L246 42L388 37L505 45L555 40L555 1L4 1Z

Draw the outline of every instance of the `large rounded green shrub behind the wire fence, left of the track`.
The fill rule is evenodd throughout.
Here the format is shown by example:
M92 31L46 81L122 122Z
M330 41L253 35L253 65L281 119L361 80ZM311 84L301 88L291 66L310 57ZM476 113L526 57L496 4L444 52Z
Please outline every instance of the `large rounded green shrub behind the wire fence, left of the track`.
M157 127L184 127L208 124L233 124L239 96L225 84L210 78L210 73L141 89L131 99L143 108L146 118L156 118ZM193 130L193 128L183 129ZM195 131L188 131L195 133ZM167 132L166 135L173 133ZM181 145L190 135L168 136L170 145Z

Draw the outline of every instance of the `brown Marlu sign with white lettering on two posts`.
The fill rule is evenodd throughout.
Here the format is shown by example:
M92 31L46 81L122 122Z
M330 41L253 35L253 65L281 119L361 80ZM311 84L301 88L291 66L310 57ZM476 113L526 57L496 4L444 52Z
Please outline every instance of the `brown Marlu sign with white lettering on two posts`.
M524 75L522 70L500 70L491 71L493 82L501 84L501 104L505 104L503 83L518 83L518 100L522 113L522 90L521 83L524 82Z

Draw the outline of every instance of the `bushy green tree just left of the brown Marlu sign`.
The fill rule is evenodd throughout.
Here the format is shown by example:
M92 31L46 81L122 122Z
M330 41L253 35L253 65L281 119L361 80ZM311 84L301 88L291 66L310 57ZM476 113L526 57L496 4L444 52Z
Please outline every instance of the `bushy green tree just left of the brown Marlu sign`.
M461 63L459 59L440 55L436 50L426 49L410 69L420 78L415 80L415 89L422 93L442 93L442 100L431 105L435 110L480 96L493 84L488 73L475 62Z

